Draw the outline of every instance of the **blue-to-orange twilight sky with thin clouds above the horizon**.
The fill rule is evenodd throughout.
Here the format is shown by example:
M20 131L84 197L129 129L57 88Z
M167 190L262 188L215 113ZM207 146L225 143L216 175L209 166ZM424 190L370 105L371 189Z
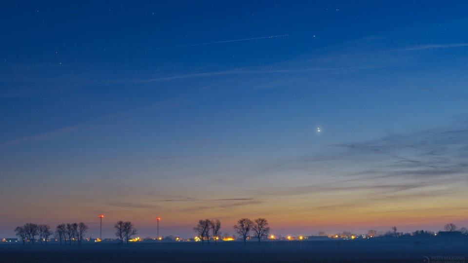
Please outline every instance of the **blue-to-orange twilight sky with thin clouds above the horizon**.
M0 2L0 237L468 226L466 1ZM268 38L270 37L270 38Z

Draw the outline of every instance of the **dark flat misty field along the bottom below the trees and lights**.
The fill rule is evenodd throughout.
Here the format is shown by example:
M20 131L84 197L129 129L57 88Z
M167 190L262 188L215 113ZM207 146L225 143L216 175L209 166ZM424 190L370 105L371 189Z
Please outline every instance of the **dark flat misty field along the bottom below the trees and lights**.
M468 239L126 244L0 244L1 263L468 263Z

